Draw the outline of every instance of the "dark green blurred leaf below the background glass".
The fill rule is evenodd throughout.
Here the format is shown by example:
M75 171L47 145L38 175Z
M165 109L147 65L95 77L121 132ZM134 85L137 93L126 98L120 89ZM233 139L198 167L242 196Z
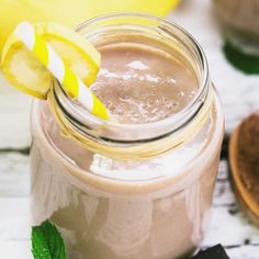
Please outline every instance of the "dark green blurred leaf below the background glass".
M259 74L259 56L248 54L229 40L225 41L223 53L226 59L238 70L247 75Z

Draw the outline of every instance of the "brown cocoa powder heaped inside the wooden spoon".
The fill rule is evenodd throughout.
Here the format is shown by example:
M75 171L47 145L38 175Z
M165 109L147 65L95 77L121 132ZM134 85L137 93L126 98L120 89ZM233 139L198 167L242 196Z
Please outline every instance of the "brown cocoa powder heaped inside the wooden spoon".
M259 111L241 123L237 148L240 179L259 204Z

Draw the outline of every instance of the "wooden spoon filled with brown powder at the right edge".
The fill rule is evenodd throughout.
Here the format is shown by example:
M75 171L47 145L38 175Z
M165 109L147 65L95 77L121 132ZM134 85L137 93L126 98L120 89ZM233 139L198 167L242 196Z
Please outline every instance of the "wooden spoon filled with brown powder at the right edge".
M229 165L240 205L259 226L259 111L234 131L229 143Z

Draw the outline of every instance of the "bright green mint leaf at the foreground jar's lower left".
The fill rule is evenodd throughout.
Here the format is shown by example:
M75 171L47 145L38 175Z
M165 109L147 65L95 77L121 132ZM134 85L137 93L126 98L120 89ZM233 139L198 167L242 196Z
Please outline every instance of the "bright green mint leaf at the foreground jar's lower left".
M34 259L66 259L63 238L50 222L32 228L32 254Z

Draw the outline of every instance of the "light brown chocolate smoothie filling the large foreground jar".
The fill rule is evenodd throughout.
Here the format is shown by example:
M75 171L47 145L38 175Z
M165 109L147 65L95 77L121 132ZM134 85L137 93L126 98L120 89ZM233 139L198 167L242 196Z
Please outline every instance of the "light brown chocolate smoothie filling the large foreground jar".
M171 117L199 90L196 72L177 49L132 42L98 48L102 65L91 88L119 123L133 126ZM48 103L35 103L34 224L53 221L71 259L191 255L206 229L223 138L215 93L213 100L206 122L185 145L143 160L87 149L60 133Z

